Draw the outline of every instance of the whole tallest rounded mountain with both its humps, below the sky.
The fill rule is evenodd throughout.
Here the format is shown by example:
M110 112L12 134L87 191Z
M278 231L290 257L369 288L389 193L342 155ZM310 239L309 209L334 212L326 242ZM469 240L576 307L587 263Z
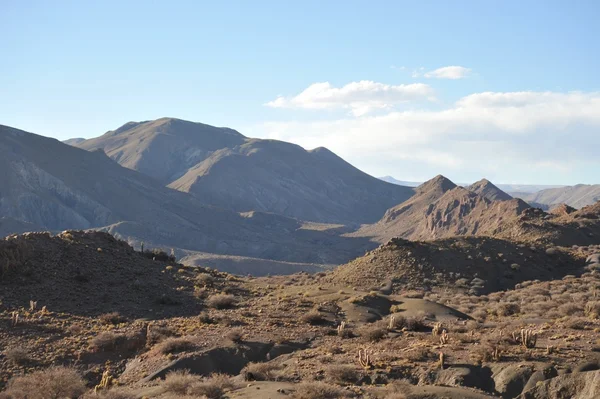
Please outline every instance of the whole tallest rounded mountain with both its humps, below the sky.
M325 148L306 151L178 119L131 122L78 147L102 149L122 166L236 212L372 223L413 194L409 187L361 172Z

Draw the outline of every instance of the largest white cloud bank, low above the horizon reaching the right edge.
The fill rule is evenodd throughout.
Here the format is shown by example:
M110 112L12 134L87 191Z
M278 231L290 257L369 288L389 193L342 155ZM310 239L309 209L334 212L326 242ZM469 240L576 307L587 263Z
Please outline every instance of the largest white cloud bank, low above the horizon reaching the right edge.
M475 93L441 110L266 123L256 133L328 147L375 175L454 172L531 183L597 179L599 131L600 93L526 91Z

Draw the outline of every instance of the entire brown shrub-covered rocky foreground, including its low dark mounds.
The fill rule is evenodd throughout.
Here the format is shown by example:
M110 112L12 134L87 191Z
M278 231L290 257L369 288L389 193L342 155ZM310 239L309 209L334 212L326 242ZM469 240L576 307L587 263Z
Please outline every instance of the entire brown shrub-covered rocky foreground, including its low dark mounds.
M105 233L8 237L0 397L600 394L600 246L393 240L364 259L249 278Z

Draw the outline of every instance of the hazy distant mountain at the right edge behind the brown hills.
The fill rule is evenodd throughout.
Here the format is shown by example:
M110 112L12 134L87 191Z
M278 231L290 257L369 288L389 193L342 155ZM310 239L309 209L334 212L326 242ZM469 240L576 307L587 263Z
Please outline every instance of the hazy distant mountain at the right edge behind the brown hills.
M537 203L553 208L558 204L567 204L574 208L582 208L600 201L600 184L567 186L542 190L521 197L528 203Z

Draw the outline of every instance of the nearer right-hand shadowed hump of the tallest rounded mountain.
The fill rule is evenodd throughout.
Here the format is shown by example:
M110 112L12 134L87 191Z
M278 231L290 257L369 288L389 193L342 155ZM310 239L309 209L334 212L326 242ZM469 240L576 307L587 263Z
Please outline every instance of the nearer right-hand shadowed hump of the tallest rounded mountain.
M248 140L216 151L169 187L236 211L326 223L370 223L413 191L381 182L325 148Z

